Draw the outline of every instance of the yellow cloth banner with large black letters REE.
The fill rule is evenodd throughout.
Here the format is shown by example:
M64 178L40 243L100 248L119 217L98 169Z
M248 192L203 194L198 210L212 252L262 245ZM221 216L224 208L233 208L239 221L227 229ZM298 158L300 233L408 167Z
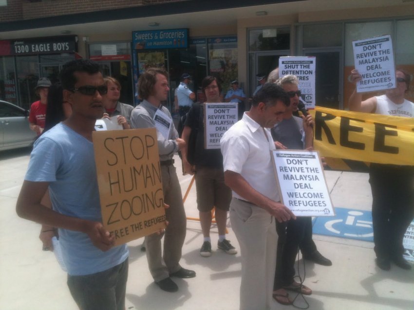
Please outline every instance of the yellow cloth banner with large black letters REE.
M414 118L318 106L309 112L322 156L414 166Z

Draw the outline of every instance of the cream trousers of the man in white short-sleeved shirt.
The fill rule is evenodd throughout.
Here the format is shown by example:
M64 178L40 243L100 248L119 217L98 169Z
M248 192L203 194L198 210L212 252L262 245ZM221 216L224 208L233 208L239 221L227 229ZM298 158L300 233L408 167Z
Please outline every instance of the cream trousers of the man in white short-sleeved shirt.
M230 222L242 257L240 310L270 309L278 240L275 219L262 208L233 198Z

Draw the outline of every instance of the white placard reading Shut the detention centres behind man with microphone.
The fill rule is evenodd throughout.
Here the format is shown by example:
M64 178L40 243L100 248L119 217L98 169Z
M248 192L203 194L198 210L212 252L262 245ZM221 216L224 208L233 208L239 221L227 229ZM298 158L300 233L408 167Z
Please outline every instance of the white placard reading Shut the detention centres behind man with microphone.
M298 89L301 91L300 100L303 101L307 109L314 109L315 99L315 76L316 76L316 57L315 56L294 56L279 58L279 76L288 74L296 75L299 79Z

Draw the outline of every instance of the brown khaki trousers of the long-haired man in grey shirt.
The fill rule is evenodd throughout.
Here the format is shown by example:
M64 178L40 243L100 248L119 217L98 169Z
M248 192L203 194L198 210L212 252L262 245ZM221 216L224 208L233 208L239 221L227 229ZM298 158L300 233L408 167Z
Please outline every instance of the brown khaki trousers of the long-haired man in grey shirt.
M163 235L152 234L145 237L148 266L155 282L168 278L169 274L181 268L181 248L186 238L187 227L183 196L175 167L161 166L161 175L164 202L169 205L165 210L169 224L165 230L164 251L161 245Z

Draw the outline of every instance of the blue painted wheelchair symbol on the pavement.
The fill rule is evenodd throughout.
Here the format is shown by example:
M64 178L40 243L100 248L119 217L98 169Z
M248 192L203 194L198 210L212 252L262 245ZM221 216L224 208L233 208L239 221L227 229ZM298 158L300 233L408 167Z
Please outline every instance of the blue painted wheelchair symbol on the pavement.
M314 221L313 233L374 241L371 211L347 208L335 208L336 216L318 217Z

